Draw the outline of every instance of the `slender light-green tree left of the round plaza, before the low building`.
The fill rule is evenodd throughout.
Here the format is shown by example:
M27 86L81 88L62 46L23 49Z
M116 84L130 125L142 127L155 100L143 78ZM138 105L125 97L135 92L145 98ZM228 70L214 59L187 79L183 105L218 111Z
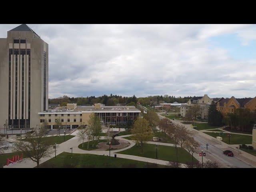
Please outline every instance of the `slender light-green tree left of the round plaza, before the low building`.
M90 136L92 137L92 147L94 147L94 138L100 136L102 132L100 118L96 117L94 114L90 114L88 128L90 130Z

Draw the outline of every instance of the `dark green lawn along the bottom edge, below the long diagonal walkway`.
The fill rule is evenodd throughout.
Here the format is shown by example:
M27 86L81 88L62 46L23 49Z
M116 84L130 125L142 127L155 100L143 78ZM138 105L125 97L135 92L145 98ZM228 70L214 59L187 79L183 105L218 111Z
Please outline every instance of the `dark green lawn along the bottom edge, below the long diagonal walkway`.
M72 157L72 158L71 158ZM40 168L168 168L168 166L142 161L114 158L94 154L62 152L56 158L40 164Z

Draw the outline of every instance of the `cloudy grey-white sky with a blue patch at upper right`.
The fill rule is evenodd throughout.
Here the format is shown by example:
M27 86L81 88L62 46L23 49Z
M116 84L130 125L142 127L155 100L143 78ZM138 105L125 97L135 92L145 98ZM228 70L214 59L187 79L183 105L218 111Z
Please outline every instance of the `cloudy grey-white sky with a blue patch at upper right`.
M49 44L49 98L256 96L256 25L28 26Z

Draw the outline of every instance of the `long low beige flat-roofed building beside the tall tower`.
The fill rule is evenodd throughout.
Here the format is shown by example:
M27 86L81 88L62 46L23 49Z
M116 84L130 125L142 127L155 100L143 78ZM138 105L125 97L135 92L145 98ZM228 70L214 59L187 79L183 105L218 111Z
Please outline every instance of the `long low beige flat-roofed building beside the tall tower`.
M140 110L135 106L105 106L104 104L94 104L94 106L77 106L67 104L67 108L62 110L46 110L39 112L39 124L42 126L45 120L48 121L50 129L55 127L55 122L60 118L62 128L77 128L88 124L90 114L100 118L103 125L122 125L127 120L136 120L140 116Z

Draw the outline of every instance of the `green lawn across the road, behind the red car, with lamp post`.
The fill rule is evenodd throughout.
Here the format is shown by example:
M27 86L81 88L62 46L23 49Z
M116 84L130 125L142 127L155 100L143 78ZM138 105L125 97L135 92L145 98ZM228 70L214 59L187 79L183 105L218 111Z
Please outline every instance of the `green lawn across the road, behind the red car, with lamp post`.
M219 133L210 133L210 132L204 132L205 134L208 134L214 138L217 136L222 137L222 141L228 144L228 134L224 133L223 135L220 135ZM234 144L252 144L252 136L248 135L239 135L239 134L231 134L230 136L230 145Z

